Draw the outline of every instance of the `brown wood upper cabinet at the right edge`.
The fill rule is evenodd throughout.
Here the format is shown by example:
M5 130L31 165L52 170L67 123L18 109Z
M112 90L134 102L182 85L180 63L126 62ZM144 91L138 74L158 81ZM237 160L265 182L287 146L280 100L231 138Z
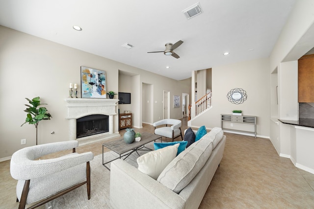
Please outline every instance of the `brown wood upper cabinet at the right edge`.
M298 60L298 102L314 102L314 54Z

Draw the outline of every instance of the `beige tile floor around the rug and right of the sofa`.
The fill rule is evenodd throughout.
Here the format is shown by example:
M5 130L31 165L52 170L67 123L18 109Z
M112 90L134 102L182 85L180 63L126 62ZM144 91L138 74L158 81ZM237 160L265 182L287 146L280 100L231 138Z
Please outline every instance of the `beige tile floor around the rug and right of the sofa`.
M183 118L182 131L186 128L187 121ZM143 124L142 129L135 131L154 133L154 127ZM121 130L120 134L124 132ZM279 157L269 139L229 133L225 135L227 142L224 157L200 209L314 208L314 174L296 168L287 158ZM78 147L77 152L92 151L95 156L102 154L102 143ZM48 158L68 152L71 151ZM0 179L0 209L18 208L16 180L10 175L10 161L0 163Z

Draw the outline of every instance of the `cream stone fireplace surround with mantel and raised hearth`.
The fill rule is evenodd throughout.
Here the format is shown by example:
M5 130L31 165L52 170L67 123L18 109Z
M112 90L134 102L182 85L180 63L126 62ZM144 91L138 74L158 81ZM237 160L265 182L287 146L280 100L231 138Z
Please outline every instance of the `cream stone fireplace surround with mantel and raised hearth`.
M89 144L100 140L120 137L114 133L113 116L117 115L118 99L98 98L66 98L67 116L69 120L69 140L78 140L79 145ZM84 116L108 116L108 131L105 133L77 138L77 119Z

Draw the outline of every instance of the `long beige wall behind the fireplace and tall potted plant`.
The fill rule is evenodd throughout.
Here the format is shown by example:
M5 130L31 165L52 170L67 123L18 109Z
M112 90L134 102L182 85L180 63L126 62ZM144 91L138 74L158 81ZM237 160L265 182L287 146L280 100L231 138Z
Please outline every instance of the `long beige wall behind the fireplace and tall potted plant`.
M68 46L56 44L0 26L0 161L18 149L35 144L35 126L25 124L27 103L25 97L40 96L52 115L52 120L41 121L38 126L38 143L68 140L66 103L69 83L80 84L80 66L105 70L107 89L120 91L119 70L135 74L130 81L132 89L133 121L141 126L142 83L154 85L154 121L162 116L162 91L171 95L189 92L190 82L176 81L137 69ZM80 88L80 85L78 86ZM80 91L78 92L80 95ZM118 107L117 107L118 109ZM129 108L128 108L129 109ZM181 108L171 111L180 118ZM118 131L118 116L114 117L114 131ZM55 134L51 134L54 131ZM21 145L26 139L26 145Z

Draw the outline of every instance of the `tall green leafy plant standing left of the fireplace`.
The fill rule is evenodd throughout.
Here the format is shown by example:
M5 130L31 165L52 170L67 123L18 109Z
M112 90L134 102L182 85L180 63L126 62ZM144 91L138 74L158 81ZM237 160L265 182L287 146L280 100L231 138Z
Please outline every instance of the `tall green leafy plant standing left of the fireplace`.
M50 113L48 113L47 108L45 107L40 107L38 108L38 106L40 105L47 105L47 104L40 104L40 97L34 97L32 100L26 98L26 100L28 101L29 104L26 104L25 106L28 107L26 108L26 110L24 110L24 112L27 113L26 119L25 119L25 123L28 124L34 124L36 127L36 145L37 145L37 133L38 133L38 123L41 120L50 120L50 118L52 117L50 115ZM38 108L38 109L37 109ZM23 123L21 126L23 126L25 123Z

